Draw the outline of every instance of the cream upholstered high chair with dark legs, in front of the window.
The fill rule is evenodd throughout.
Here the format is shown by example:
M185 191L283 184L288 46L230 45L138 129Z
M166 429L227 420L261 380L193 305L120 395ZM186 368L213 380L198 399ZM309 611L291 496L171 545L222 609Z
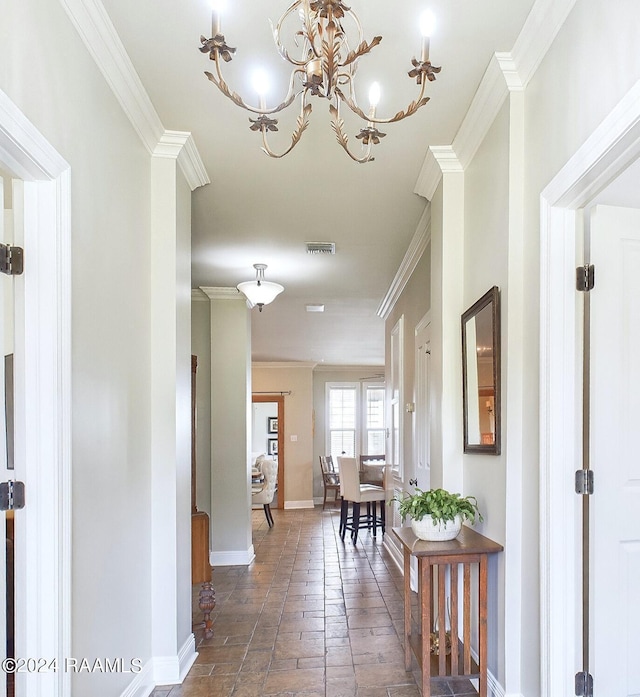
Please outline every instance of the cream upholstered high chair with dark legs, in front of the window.
M355 457L339 457L338 471L340 474L340 493L342 505L340 508L340 537L349 530L353 544L358 541L358 531L367 528L377 533L378 526L385 531L385 490L382 486L360 483L360 472ZM380 515L377 514L377 504L380 503ZM352 512L349 515L349 503ZM367 504L364 517L360 515L360 504Z

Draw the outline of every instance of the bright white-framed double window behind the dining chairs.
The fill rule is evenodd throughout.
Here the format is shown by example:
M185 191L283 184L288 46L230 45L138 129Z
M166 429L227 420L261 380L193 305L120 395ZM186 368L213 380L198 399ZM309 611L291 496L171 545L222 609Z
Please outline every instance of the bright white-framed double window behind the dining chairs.
M385 452L384 386L381 383L327 383L327 452L383 455Z

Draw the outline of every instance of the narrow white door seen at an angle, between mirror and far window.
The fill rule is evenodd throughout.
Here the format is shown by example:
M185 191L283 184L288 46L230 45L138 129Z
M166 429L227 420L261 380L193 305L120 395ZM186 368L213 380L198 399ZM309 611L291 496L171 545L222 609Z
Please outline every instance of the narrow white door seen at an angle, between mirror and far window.
M415 413L413 447L415 478L423 491L431 486L431 324L416 327Z

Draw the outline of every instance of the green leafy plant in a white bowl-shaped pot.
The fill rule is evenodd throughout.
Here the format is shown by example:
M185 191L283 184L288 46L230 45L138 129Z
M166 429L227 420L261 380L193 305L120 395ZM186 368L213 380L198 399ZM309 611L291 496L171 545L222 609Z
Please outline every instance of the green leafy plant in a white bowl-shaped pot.
M460 534L464 520L472 525L476 518L483 520L475 496L461 496L446 489L422 491L416 487L415 493L405 491L391 501L398 503L403 523L407 516L411 518L411 528L421 540L453 540Z

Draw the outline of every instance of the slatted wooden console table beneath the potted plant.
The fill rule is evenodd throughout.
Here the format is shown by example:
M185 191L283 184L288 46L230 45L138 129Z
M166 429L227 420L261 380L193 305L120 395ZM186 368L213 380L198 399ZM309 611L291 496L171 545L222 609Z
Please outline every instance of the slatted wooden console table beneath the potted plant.
M478 678L480 697L487 697L487 560L502 545L466 525L448 542L419 540L411 528L393 528L404 549L405 668L413 652L422 668L422 695L430 697L431 679ZM417 632L412 632L411 557L418 560ZM472 565L477 565L478 663L471 656ZM462 568L460 568L462 567ZM462 573L462 604L458 598ZM447 605L447 598L450 604ZM462 636L459 619L462 612ZM447 629L449 624L449 629ZM444 651L440 647L446 647Z

